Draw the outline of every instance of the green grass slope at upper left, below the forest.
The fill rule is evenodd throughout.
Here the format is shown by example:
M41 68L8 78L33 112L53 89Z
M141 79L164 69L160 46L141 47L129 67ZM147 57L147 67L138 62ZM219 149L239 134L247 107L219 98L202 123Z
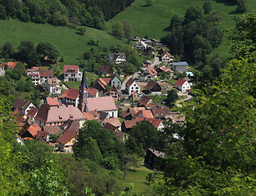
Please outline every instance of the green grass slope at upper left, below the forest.
M106 31L89 27L86 27L85 35L79 35L75 33L75 29L68 27L0 20L0 29L0 46L9 41L17 50L21 41L34 42L35 46L39 42L52 42L60 51L61 56L64 56L65 64L70 65L79 64L77 57L92 47L87 44L92 38L99 40L102 47L127 44L126 39L119 40Z

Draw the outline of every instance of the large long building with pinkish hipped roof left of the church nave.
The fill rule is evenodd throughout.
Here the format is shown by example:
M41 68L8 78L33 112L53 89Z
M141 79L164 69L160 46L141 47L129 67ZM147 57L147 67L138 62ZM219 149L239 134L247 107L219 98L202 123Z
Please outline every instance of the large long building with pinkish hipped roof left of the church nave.
M62 125L68 120L78 120L80 127L85 122L83 113L74 105L57 105L50 106L43 104L38 109L38 114L35 116L34 121L40 127Z

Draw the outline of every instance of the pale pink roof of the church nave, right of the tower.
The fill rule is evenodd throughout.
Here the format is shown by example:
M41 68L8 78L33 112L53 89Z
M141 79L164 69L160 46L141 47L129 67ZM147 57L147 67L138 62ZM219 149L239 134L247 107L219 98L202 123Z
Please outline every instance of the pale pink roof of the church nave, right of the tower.
M88 98L87 108L97 112L118 109L112 96Z

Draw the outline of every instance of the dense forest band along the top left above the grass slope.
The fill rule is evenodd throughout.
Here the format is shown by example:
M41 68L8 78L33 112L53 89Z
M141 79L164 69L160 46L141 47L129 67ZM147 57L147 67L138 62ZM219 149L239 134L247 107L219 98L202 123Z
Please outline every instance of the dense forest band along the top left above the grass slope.
M109 20L133 1L83 1L83 0L2 0L0 19L20 20L57 26L85 25L105 29Z

